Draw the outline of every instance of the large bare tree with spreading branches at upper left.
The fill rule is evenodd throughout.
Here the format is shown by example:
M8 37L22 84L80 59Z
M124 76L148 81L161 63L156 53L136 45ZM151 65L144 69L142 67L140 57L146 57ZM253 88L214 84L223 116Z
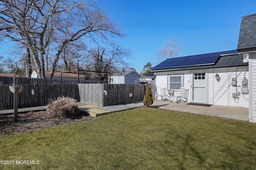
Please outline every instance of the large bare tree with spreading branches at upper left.
M124 36L92 2L65 0L0 1L0 36L21 42L30 50L38 71L45 77L44 55L50 46L55 51L50 78L64 47L81 38L110 40Z

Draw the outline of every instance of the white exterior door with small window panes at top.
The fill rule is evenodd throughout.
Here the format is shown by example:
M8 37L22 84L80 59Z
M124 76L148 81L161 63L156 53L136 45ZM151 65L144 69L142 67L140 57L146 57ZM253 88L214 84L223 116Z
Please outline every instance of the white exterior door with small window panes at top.
M207 103L207 79L205 72L193 73L192 101L196 103Z

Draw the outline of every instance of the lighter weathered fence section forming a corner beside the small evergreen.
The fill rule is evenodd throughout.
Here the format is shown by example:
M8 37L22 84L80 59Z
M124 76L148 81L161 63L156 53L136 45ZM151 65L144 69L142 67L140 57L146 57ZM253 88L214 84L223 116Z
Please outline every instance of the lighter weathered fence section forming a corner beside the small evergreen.
M101 107L143 101L146 86L153 95L155 84L78 84L80 100Z

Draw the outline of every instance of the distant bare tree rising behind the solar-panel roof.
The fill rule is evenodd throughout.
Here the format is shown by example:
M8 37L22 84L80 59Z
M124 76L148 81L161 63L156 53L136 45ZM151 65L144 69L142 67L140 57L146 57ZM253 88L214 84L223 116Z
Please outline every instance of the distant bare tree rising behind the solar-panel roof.
M178 42L175 39L172 39L172 42L170 42L170 40L166 40L164 42L164 46L157 52L157 63L160 63L168 58L177 57L181 49L177 46Z

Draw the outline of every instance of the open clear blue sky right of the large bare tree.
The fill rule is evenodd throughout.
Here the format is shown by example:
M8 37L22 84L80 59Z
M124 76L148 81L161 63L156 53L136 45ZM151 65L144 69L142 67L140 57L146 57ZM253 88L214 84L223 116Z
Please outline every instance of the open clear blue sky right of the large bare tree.
M256 13L256 0L95 0L127 35L138 73L165 40L176 39L179 57L237 48L242 16Z

